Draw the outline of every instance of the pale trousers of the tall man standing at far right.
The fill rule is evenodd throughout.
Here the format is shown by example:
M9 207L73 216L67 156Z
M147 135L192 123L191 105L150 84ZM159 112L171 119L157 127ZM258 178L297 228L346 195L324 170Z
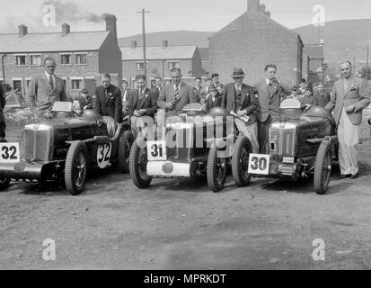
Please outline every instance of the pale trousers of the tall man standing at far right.
M341 111L338 127L339 165L341 175L358 173L359 126L353 125L344 108Z

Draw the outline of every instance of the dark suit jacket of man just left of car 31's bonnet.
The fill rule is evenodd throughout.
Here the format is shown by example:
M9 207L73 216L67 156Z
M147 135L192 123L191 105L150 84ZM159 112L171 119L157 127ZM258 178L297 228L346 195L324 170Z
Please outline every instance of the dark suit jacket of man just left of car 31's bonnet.
M157 94L154 90L146 87L145 90L145 100L142 101L141 105L137 103L139 97L139 90L130 90L128 92L128 114L133 115L135 110L146 109L146 115L155 117L155 112L157 112ZM143 99L142 99L143 100Z

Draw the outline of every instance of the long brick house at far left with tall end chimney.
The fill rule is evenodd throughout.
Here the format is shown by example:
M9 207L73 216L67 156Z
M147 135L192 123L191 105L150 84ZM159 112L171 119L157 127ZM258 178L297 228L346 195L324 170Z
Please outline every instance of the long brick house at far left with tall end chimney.
M106 31L71 31L62 24L60 32L0 34L0 80L18 88L23 96L32 76L42 73L43 60L57 61L56 75L66 83L67 94L86 87L94 93L99 74L108 72L115 85L121 85L121 51L117 41L116 17L107 15Z

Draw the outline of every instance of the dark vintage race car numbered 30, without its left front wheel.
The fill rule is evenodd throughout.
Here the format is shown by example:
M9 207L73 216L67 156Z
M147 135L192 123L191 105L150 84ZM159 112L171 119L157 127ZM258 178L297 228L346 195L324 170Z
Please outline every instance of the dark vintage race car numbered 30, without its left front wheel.
M269 127L268 144L269 155L250 154L250 175L293 180L314 175L314 191L326 193L339 144L331 112L316 106L302 112L297 100L283 101Z

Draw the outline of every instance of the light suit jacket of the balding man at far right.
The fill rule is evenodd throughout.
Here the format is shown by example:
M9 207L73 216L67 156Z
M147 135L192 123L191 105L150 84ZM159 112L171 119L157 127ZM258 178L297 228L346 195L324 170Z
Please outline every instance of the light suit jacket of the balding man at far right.
M333 118L335 118L336 124L338 124L342 108L353 104L356 107L356 112L350 112L347 113L347 115L353 125L358 125L362 122L362 110L366 108L369 103L370 94L367 80L352 77L349 79L347 90L344 91L344 80L341 78L334 83L330 102L327 103L324 108L330 111L333 110Z

